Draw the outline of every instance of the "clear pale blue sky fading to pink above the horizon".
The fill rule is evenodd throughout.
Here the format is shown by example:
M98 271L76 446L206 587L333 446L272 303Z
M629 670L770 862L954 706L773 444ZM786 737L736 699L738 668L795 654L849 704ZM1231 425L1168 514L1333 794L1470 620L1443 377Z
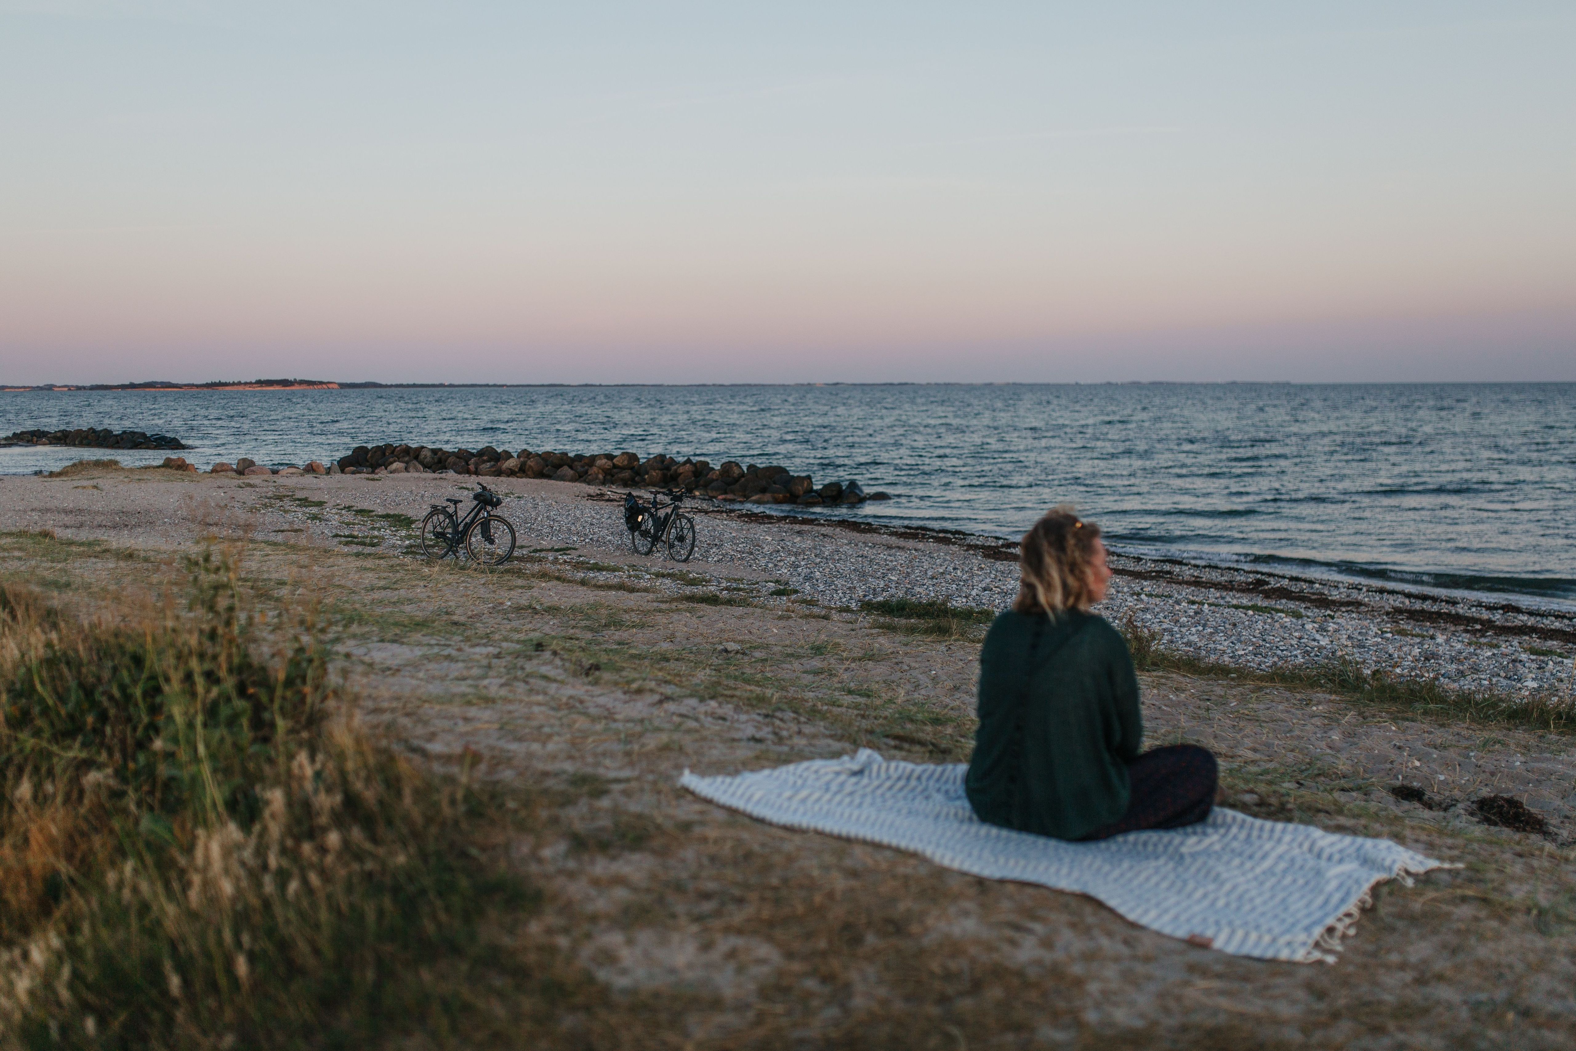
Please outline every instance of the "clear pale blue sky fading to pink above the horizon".
M0 0L0 380L1576 380L1576 8Z

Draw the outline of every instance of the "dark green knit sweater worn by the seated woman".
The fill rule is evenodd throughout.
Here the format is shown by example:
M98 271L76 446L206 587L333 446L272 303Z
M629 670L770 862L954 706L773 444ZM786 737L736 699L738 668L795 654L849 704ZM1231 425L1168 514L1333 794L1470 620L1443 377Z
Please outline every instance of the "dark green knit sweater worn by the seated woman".
M979 717L966 788L982 821L1076 840L1127 810L1144 728L1127 641L1103 618L999 615Z

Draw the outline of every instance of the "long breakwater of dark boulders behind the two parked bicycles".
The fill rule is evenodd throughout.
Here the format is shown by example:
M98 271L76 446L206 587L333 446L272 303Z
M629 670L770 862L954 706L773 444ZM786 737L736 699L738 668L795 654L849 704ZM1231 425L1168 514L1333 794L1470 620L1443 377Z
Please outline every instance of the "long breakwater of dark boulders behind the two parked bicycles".
M686 457L678 460L656 454L641 459L637 452L533 452L520 449L440 449L432 446L380 444L356 446L331 468L345 474L452 473L478 477L541 477L582 485L613 485L623 488L682 488L722 501L752 504L862 504L867 500L890 500L887 493L867 493L856 481L816 485L808 474L788 468L725 460L716 466L709 460Z

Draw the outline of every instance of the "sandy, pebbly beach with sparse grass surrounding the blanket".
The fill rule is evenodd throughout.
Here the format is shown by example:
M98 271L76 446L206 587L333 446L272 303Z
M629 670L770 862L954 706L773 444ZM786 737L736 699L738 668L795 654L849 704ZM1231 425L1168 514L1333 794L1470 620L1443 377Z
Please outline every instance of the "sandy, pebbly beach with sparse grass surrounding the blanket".
M1551 712L1573 703L1576 616L1113 559L1098 611L1174 659L1143 674L1150 745L1215 750L1225 805L1464 865L1385 886L1333 967L1262 964L676 788L686 767L856 747L966 759L979 626L935 630L867 603L1001 608L1010 545L704 509L695 558L675 564L629 548L611 492L492 481L520 544L482 572L414 548L411 520L470 488L457 476L8 476L0 574L91 605L161 586L180 553L219 537L244 542L257 588L320 600L362 719L440 766L479 756L545 815L512 851L552 908L511 930L597 990L596 1010L544 1031L548 1045L1081 1046L1098 1032L1116 1048L1557 1048L1576 1035L1568 730L1266 674L1346 662ZM1543 829L1486 823L1485 796L1515 797ZM515 996L498 991L504 1015Z

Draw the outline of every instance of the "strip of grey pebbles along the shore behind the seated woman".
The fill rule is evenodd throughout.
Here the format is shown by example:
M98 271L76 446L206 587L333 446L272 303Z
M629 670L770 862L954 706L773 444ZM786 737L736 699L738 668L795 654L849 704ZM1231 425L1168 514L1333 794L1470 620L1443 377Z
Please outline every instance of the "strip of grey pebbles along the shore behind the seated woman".
M167 542L194 529L236 526L255 536L419 556L414 529L427 504L468 490L454 476L229 479L121 471L76 479L5 477L0 525L113 536L153 531ZM760 602L849 608L868 599L942 599L1002 608L1017 589L1010 545L994 537L876 529L829 517L793 517L700 503L695 556L682 566L632 553L621 493L526 479L492 479L522 556L563 563L591 578L634 578L679 591L711 585ZM383 517L380 517L383 515ZM574 548L571 551L553 548ZM600 567L599 567L600 564ZM1113 558L1117 581L1102 613L1132 616L1165 649L1247 668L1352 660L1403 679L1576 703L1576 615L1502 599ZM772 592L779 594L772 594ZM793 594L785 594L791 591Z

